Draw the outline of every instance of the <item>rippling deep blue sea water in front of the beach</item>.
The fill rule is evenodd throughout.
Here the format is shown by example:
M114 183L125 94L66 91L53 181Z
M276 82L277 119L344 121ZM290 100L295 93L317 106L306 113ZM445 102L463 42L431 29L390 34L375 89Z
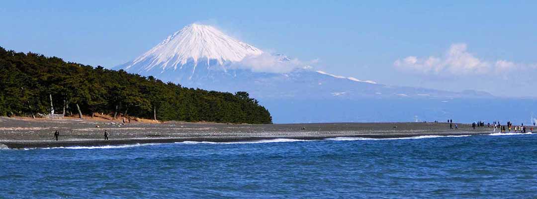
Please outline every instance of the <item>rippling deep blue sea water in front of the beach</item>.
M0 198L535 198L537 136L0 150Z

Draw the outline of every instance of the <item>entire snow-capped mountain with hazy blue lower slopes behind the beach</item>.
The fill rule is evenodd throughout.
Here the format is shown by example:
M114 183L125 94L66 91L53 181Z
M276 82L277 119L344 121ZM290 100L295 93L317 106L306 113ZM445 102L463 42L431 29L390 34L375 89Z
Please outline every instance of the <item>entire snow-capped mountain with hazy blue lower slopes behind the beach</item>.
M247 91L269 109L275 123L444 118L470 122L490 117L497 105L509 101L480 91L388 86L330 74L284 54L264 52L202 24L185 26L146 53L113 69L190 88ZM528 103L509 102L516 108L529 108ZM531 102L531 107L537 107ZM468 116L467 109L474 106L483 110Z

